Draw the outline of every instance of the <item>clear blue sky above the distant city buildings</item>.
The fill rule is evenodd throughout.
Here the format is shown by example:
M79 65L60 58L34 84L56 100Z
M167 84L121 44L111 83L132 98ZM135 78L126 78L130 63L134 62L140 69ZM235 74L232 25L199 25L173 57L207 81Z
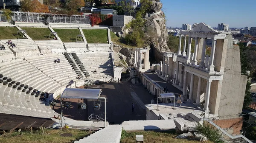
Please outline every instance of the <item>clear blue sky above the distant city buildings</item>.
M229 28L256 27L256 0L161 0L166 26L204 22L211 27L225 23Z

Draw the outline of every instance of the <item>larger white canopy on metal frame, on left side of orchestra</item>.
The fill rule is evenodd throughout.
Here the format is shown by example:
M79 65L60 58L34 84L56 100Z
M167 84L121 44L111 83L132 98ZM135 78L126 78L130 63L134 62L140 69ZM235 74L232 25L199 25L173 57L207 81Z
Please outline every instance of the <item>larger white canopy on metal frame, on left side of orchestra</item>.
M81 89L81 88L66 88L62 95L62 98L81 98L81 99L104 99L105 100L105 127L106 127L106 98L100 97L102 89ZM62 122L62 100L61 100L61 126Z

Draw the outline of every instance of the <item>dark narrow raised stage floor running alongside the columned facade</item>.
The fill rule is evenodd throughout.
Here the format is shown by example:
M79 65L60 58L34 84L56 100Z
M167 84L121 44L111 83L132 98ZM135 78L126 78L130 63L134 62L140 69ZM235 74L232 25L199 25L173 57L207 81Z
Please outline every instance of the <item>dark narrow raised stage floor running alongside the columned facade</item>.
M180 91L179 89L177 89L176 87L174 87L171 83L168 83L166 81L164 81L163 79L161 79L160 77L157 76L157 74L155 73L144 73L146 76L148 76L151 80L155 81L157 84L159 84L161 87L168 88L168 91L170 93L178 93L178 94L182 94L182 91Z

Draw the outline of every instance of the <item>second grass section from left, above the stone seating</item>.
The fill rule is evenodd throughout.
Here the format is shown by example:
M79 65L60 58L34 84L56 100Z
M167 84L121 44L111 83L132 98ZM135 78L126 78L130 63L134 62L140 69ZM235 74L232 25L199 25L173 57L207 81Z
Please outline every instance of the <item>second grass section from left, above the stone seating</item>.
M21 29L26 30L33 40L49 40L49 34L51 33L49 28L21 27Z

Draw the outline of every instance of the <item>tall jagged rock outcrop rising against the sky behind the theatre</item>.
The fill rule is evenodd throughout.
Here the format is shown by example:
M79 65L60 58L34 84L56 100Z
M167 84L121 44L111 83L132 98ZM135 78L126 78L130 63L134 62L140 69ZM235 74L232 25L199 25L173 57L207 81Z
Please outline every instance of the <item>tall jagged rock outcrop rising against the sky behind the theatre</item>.
M167 45L169 40L165 24L165 15L161 11L163 4L157 0L151 0L150 11L145 14L145 35L151 42L151 50L157 62L163 60L162 52L170 51Z

